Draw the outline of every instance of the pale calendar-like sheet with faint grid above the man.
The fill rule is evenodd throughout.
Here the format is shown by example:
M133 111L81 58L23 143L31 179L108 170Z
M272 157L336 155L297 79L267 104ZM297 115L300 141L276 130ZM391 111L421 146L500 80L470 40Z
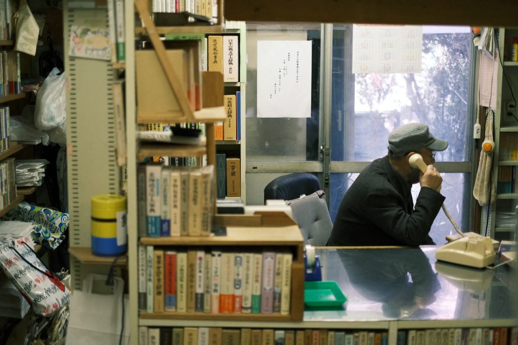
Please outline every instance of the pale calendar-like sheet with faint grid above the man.
M353 25L353 73L421 73L423 27Z

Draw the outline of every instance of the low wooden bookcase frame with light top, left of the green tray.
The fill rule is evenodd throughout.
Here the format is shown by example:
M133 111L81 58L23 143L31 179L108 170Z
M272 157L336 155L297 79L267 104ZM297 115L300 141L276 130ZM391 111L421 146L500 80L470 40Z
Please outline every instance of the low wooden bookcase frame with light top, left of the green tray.
M254 215L217 215L213 225L225 227L226 234L207 237L141 237L140 244L156 247L205 246L218 248L275 248L293 254L290 314L204 314L204 313L146 313L141 319L183 319L224 321L302 321L304 316L304 238L297 224L284 212L265 212Z

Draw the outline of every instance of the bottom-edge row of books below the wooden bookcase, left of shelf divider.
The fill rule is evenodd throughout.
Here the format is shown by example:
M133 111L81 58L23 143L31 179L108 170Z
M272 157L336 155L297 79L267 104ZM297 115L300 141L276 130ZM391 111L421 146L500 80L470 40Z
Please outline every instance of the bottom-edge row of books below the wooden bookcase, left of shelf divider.
M388 332L341 329L144 327L139 345L385 345Z

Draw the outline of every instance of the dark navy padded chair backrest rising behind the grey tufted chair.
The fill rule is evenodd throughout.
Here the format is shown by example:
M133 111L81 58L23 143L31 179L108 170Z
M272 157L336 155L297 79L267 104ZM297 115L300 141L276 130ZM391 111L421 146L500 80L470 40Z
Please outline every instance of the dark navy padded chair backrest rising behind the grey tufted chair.
M319 179L310 173L291 173L274 178L264 187L264 203L266 200L292 200L303 194L309 195L320 190Z

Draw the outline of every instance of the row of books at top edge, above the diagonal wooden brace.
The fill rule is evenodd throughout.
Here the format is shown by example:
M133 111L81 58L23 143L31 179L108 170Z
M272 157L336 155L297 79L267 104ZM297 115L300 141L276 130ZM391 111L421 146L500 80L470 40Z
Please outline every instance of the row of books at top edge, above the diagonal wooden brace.
M213 0L153 0L153 12L190 12L205 17L218 17L218 2Z

